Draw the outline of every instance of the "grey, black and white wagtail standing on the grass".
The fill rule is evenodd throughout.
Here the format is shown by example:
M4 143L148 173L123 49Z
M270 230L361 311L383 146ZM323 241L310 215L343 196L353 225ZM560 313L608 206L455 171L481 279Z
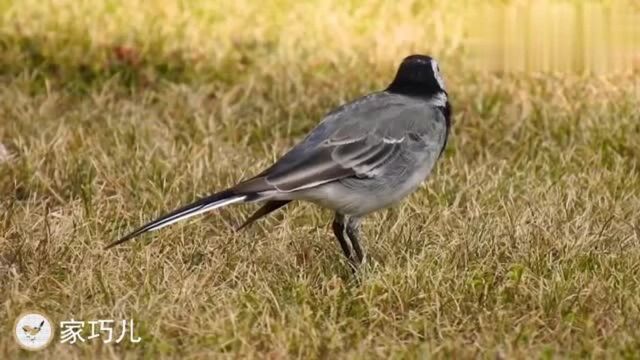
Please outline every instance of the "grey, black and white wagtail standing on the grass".
M166 214L106 248L222 206L264 202L240 230L293 200L305 200L335 211L333 232L355 269L364 260L360 220L399 202L427 178L447 144L450 119L436 60L408 56L384 91L329 112L268 169Z

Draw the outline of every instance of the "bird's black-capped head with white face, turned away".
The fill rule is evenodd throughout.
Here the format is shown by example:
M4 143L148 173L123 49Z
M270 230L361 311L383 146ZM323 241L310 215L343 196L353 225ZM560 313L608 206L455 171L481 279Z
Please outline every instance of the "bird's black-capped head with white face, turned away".
M402 60L396 77L387 87L387 91L424 97L443 92L446 94L438 62L426 55L410 55Z

